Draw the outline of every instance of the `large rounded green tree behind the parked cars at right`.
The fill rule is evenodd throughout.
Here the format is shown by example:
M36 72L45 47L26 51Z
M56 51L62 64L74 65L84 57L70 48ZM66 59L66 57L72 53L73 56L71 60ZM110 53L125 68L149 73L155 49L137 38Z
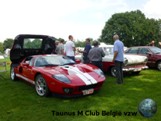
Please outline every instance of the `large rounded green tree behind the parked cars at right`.
M100 41L113 44L114 34L118 34L126 46L147 45L159 38L159 25L140 10L116 13L106 22Z

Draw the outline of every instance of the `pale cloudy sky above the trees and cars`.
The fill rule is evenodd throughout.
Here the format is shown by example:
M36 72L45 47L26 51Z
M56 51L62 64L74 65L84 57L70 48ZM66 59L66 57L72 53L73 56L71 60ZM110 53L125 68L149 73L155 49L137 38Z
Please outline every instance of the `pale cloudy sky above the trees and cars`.
M98 39L115 13L141 10L161 19L161 0L1 0L0 42L18 34Z

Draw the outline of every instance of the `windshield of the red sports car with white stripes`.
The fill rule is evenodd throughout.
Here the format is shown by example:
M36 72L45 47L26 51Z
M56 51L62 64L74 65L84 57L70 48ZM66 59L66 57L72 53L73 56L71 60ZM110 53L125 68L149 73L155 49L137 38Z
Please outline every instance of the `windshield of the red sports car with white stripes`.
M69 64L75 64L75 62L66 56L47 55L38 57L34 65L36 67L42 67L42 66L61 66Z

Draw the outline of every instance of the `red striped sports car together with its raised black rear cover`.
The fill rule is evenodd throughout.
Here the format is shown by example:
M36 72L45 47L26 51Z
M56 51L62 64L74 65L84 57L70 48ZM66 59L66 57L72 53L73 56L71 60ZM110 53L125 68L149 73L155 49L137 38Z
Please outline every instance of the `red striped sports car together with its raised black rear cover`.
M30 45L34 41L37 45ZM44 35L16 37L10 53L11 80L20 78L35 85L39 96L50 92L63 96L89 95L99 90L105 81L103 72L94 65L76 64L63 55L47 54L55 49L54 41ZM46 51L43 44L48 44L50 50Z

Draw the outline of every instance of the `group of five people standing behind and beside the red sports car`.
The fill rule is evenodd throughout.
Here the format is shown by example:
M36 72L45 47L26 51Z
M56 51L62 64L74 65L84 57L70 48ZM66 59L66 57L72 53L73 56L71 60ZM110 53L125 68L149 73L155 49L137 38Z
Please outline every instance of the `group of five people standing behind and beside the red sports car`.
M64 40L60 40L56 46L55 52L57 54L66 55L75 61L75 51L76 47L74 44L74 38L72 35L68 36L68 41L64 43ZM114 39L114 56L113 62L115 63L116 69L116 78L117 84L123 83L123 61L124 61L124 44L119 40L119 36L115 34L113 36ZM98 68L102 69L102 58L105 56L102 48L99 48L99 42L93 41L93 48L91 46L90 38L86 39L86 45L84 50L77 50L78 52L83 54L83 63L91 63Z

